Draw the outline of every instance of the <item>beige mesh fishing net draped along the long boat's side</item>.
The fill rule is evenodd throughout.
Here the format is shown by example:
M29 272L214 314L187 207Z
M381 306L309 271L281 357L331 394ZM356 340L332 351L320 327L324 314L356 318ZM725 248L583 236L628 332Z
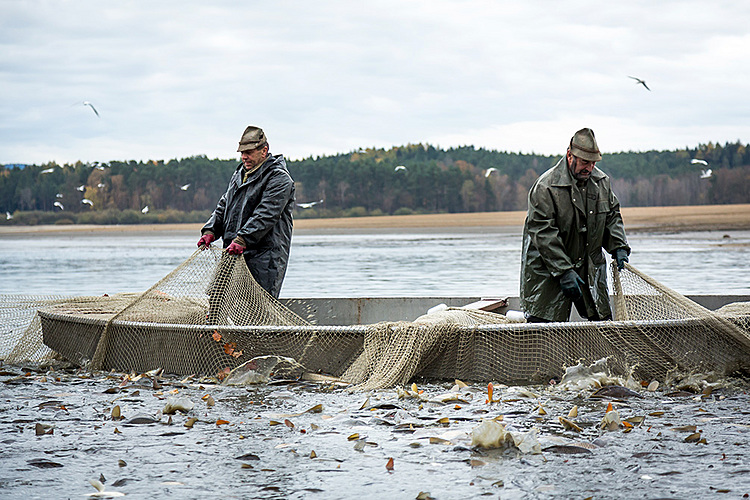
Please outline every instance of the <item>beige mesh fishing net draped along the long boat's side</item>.
M91 370L162 368L221 380L273 355L359 390L415 376L539 383L602 358L613 373L641 380L750 373L750 303L710 311L630 265L611 275L614 321L525 323L451 307L413 321L332 325L324 308L282 303L244 259L210 247L143 293L4 297L0 357L61 356Z

